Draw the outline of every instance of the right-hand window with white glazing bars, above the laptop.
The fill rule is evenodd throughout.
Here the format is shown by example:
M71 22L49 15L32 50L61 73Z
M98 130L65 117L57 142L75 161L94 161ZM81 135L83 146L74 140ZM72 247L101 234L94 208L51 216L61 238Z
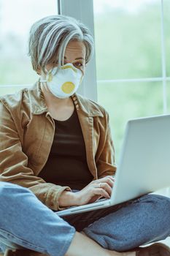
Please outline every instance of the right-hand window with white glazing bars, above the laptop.
M170 110L168 0L93 0L98 102L116 159L128 119Z

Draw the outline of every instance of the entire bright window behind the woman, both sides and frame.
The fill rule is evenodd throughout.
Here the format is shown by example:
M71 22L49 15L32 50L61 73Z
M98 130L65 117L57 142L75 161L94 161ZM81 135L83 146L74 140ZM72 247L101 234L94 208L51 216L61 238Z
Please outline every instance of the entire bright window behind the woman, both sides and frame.
M61 13L94 32L96 59L79 92L108 110L116 161L128 119L170 111L169 0L0 0L0 7L0 95L36 81L26 56L29 28Z

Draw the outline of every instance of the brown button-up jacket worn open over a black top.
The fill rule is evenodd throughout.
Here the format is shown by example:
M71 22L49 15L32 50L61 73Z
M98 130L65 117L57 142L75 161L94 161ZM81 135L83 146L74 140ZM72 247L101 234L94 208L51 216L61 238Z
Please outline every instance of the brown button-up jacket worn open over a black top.
M107 112L96 102L74 94L85 140L87 162L94 179L115 174L115 159ZM37 177L53 143L55 123L37 82L31 89L0 98L0 181L31 189L54 210L60 209L61 187Z

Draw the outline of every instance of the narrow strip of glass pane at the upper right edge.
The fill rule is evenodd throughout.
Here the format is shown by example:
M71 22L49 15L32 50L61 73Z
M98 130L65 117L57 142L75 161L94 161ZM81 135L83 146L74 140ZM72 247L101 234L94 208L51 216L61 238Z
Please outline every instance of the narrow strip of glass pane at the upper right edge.
M163 21L164 21L164 32L165 32L165 44L166 44L166 75L170 76L170 1L163 0Z

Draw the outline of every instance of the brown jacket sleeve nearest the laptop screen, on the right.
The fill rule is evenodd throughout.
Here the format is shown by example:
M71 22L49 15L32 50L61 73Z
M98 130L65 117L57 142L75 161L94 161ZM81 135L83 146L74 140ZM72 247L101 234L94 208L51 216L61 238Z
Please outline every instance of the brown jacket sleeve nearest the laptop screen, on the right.
M96 167L98 170L98 178L105 176L115 176L115 148L113 146L111 129L109 126L109 115L104 113L104 123L100 132L101 145L96 159Z

